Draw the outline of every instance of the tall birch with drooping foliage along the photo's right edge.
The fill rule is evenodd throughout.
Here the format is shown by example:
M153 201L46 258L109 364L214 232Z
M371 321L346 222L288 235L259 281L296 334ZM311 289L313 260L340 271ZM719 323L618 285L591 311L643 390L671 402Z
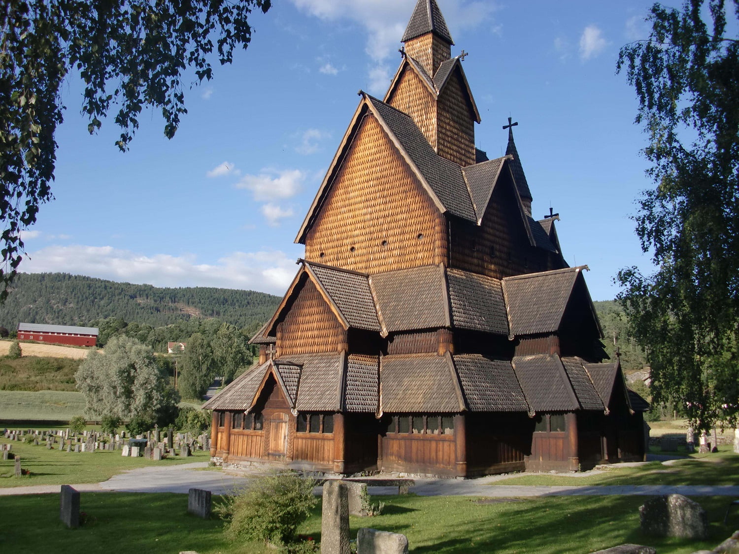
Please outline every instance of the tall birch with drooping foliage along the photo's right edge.
M738 17L736 10L730 15ZM706 21L704 21L704 18ZM653 401L692 423L739 411L739 41L723 0L654 4L647 40L621 49L656 188L634 217L658 270L619 272L621 303L652 366Z

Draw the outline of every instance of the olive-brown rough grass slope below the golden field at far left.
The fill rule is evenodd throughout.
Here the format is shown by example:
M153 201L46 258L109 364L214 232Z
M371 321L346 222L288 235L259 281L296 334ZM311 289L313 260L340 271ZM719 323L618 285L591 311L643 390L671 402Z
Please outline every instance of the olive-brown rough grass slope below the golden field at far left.
M82 360L23 356L0 358L0 390L74 391L75 373Z

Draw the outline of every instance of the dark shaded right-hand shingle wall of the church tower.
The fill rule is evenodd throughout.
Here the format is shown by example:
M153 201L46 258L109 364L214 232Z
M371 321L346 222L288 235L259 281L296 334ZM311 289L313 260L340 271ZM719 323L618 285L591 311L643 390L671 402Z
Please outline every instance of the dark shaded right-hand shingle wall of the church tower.
M463 167L475 163L474 112L458 68L437 100L437 153Z

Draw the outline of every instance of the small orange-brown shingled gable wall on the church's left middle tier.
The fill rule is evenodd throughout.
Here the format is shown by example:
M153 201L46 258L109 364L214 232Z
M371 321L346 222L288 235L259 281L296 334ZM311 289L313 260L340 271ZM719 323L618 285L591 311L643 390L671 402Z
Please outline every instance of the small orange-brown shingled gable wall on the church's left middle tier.
M336 351L347 333L316 289L306 281L285 320L277 325L277 356Z

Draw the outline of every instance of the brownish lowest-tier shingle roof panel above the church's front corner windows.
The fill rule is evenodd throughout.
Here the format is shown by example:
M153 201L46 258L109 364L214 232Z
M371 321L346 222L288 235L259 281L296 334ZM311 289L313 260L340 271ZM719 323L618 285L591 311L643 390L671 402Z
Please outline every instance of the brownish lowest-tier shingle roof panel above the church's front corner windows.
M450 355L383 356L380 383L381 412L459 413L466 409Z

